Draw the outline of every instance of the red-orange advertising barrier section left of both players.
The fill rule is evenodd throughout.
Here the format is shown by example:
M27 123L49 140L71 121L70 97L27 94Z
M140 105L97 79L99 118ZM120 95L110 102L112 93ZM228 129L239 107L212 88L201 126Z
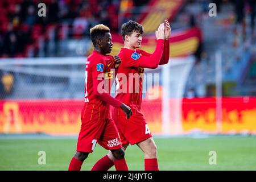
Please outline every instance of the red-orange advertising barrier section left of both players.
M82 101L0 101L0 133L78 134Z

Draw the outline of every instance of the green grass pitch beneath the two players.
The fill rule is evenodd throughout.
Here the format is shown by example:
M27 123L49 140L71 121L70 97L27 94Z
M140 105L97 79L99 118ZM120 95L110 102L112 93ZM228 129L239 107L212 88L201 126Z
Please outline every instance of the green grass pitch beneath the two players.
M76 142L73 138L0 138L0 170L67 170ZM160 170L256 170L256 137L155 138L155 142ZM38 164L39 151L46 152L46 164ZM216 152L217 164L209 164L210 151ZM81 170L90 170L107 152L97 144ZM144 170L138 146L127 148L126 162L130 170Z

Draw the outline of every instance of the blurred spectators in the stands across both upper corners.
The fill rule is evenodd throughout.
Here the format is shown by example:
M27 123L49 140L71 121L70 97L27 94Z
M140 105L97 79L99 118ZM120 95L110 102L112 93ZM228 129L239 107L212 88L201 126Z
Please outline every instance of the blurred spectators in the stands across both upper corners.
M46 5L46 16L40 17L39 3ZM40 40L47 45L54 41L89 36L89 28L103 23L113 32L118 31L118 13L129 7L147 5L150 0L1 0L0 1L0 57L27 57L31 49L36 52ZM234 3L238 30L245 36L245 15L250 14L252 36L255 27L255 0L188 0L187 3L201 3L209 11L209 3ZM130 19L129 13L124 18ZM193 22L193 21L192 21ZM241 28L240 28L241 27ZM51 32L54 31L54 37ZM235 32L235 34L236 34ZM42 41L41 41L42 42ZM36 56L34 54L33 56Z

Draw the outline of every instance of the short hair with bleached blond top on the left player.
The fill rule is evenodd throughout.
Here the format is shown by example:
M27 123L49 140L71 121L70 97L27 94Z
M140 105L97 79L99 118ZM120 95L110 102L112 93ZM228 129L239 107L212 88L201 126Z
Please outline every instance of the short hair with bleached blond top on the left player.
M90 39L92 40L93 46L97 45L97 40L102 38L105 33L109 33L109 27L104 24L97 24L96 26L90 28Z

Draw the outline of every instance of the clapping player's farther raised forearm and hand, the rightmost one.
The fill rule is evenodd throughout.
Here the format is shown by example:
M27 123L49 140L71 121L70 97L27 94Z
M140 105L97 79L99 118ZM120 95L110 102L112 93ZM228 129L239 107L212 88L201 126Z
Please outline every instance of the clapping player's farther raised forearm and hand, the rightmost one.
M161 60L159 62L159 65L167 64L170 59L170 35L171 35L171 26L168 20L164 20L165 26L164 26L164 51L163 55L161 57Z

